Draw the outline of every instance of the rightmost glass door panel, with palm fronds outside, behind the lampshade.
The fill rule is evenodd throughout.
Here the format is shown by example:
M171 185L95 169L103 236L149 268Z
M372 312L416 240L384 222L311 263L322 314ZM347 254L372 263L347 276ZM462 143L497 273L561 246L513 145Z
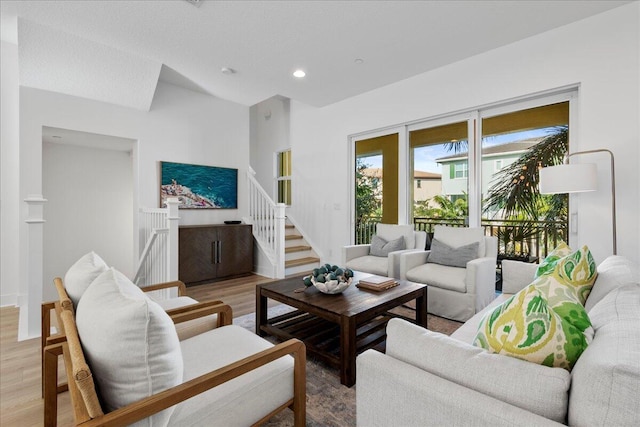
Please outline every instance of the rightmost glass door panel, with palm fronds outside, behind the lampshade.
M540 195L537 183L562 161L568 129L569 102L483 118L482 223L503 256L530 260L566 239L567 195Z

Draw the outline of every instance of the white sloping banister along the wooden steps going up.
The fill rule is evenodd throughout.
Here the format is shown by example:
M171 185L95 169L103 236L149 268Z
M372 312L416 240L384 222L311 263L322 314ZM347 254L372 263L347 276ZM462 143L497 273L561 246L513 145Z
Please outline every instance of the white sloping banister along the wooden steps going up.
M249 167L249 216L253 224L253 236L275 267L276 278L284 278L284 203L275 203L255 178Z

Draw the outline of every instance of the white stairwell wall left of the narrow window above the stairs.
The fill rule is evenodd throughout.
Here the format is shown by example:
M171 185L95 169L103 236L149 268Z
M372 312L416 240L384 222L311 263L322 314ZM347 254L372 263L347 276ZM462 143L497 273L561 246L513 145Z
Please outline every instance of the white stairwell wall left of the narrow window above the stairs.
M274 153L291 147L288 98L274 96L251 107L251 167L275 200Z

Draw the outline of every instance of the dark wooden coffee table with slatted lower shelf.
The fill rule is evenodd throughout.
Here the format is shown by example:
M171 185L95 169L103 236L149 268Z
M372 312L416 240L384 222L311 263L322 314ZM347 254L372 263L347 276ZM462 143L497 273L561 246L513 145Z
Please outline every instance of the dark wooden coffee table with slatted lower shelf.
M354 283L343 293L326 295L315 287L304 292L302 276L258 285L256 288L256 333L279 339L298 338L307 351L340 369L340 382L351 387L356 382L356 355L384 344L389 310L416 300L415 322L427 327L427 287L401 280L382 292L361 290L357 280L370 274L356 273ZM267 299L297 310L267 319Z

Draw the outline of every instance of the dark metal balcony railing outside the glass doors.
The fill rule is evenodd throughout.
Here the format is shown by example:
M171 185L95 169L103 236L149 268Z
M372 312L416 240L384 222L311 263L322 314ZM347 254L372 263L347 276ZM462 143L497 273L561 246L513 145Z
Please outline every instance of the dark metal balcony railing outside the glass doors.
M376 224L381 218L369 218L356 225L356 244L371 241ZM465 227L465 218L414 218L416 230L433 233L436 225ZM561 240L567 240L565 221L523 221L507 219L483 219L485 235L498 237L498 253L513 257L526 256L539 259L547 256Z

